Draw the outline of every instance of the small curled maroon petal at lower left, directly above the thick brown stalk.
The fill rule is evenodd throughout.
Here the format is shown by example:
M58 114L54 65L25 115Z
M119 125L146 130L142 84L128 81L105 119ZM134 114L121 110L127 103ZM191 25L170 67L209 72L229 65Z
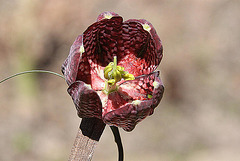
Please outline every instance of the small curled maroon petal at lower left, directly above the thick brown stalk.
M81 118L102 118L102 103L98 94L82 81L76 81L68 88L78 116Z

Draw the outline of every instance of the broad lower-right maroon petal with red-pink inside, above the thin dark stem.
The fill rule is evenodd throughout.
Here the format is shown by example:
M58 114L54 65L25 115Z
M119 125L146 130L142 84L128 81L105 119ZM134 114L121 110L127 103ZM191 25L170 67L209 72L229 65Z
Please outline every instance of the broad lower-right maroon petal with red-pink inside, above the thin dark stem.
M131 84L133 84L134 86L136 84L139 84L142 80L152 80L147 77L155 78L153 82L154 88L152 92L149 92L151 94L151 98L150 96L147 96L146 98L146 95L148 93L146 92L146 90L144 90L145 92L140 93L135 93L134 91L131 91L132 88L128 91L125 91L129 93L122 93L123 91L118 91L121 98L124 99L125 102L126 100L128 100L129 103L125 103L123 105L120 104L118 108L108 107L111 110L103 113L103 121L106 124L122 127L126 131L132 131L138 122L140 122L147 116L153 114L154 108L157 107L157 105L160 103L164 92L164 87L160 78L158 77L158 73L153 73L146 77L141 77L144 79L139 78L136 81L132 81L131 83L126 82L123 84L128 84L130 87ZM141 85L141 87L143 86ZM145 96L143 100L136 100L136 98L143 96ZM130 100L131 97L133 97L134 100ZM112 102L114 102L114 99L112 100Z

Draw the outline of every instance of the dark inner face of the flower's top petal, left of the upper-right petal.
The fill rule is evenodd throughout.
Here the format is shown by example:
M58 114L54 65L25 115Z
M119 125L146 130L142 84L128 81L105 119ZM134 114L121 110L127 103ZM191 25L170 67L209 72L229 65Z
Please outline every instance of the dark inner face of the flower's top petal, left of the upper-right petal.
M117 40L121 38L121 17L103 19L88 27L83 34L83 44L91 63L107 66L117 55ZM92 65L91 65L92 66Z

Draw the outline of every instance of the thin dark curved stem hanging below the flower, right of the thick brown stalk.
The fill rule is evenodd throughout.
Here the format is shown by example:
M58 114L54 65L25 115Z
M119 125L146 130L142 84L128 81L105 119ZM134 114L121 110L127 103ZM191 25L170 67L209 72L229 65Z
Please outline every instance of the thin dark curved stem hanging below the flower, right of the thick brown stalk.
M123 156L124 156L123 155L123 145L122 145L122 140L121 140L119 130L116 126L110 126L110 128L113 132L115 142L116 142L117 147L118 147L118 161L123 161Z

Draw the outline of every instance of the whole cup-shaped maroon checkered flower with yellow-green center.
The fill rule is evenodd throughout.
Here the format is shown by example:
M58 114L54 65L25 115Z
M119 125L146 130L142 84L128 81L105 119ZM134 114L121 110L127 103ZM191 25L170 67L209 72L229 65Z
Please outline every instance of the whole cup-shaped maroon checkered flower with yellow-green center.
M162 44L152 24L104 12L76 38L62 72L78 116L132 131L153 114L164 87Z

